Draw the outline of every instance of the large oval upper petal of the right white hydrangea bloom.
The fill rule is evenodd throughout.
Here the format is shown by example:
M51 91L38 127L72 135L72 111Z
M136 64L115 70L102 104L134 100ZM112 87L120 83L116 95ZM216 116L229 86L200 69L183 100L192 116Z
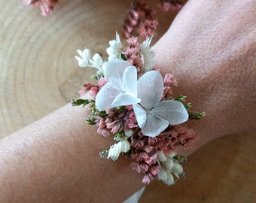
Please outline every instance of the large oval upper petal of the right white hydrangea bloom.
M163 77L158 71L148 71L138 80L137 95L142 99L140 104L150 110L163 97Z

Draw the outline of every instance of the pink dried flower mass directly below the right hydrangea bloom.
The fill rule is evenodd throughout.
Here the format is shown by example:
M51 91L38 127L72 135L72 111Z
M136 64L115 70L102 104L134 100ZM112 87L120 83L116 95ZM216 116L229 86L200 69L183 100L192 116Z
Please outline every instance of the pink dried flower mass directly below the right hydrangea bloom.
M157 151L164 154L171 154L194 144L198 135L184 126L169 126L164 132L155 138L144 136L139 130L133 134L133 141L130 142L133 159L133 170L144 173L143 183L150 183L151 179L157 176L161 166L157 165Z

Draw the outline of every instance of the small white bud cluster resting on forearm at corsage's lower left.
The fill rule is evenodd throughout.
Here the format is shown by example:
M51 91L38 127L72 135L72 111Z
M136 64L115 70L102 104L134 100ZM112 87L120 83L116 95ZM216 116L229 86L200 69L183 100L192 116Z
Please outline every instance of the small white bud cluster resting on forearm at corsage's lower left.
M117 144L111 146L108 150L108 159L117 160L120 153L126 153L130 150L130 143L127 140L121 140Z

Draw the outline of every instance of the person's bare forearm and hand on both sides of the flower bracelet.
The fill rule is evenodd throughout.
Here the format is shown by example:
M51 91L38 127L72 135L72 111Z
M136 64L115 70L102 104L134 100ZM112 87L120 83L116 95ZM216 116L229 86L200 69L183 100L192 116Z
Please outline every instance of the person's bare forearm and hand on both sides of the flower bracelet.
M207 2L207 3L206 3ZM255 1L190 0L154 45L155 61L178 79L207 117L189 121L203 144L254 130ZM124 158L99 159L113 143L84 122L86 111L66 105L0 141L1 202L121 202L142 187Z

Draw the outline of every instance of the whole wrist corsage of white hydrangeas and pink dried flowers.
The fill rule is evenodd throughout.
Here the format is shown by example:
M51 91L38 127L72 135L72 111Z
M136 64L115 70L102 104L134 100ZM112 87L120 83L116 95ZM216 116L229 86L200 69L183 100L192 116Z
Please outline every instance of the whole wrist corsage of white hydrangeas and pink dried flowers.
M73 105L90 105L87 123L96 125L97 132L114 136L115 144L99 155L117 160L120 154L133 160L132 167L145 174L143 183L153 178L171 185L174 177L184 176L180 152L194 144L197 134L181 126L190 115L199 119L204 113L190 112L184 96L173 97L175 77L164 77L154 65L151 38L139 44L129 38L123 47L119 35L109 42L108 61L90 50L78 50L81 67L96 68L96 84L86 83L80 94L90 92L93 99L73 99Z

